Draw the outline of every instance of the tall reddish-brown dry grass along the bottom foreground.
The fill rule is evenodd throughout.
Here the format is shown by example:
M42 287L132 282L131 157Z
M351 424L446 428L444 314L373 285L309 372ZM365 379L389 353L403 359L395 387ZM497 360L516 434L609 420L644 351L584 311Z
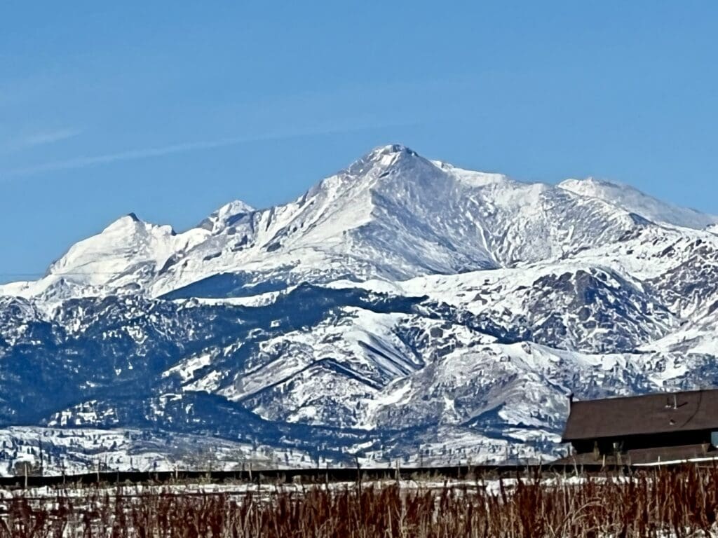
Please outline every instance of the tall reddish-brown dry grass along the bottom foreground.
M712 536L718 469L686 467L439 488L88 489L2 501L0 537L689 537Z

